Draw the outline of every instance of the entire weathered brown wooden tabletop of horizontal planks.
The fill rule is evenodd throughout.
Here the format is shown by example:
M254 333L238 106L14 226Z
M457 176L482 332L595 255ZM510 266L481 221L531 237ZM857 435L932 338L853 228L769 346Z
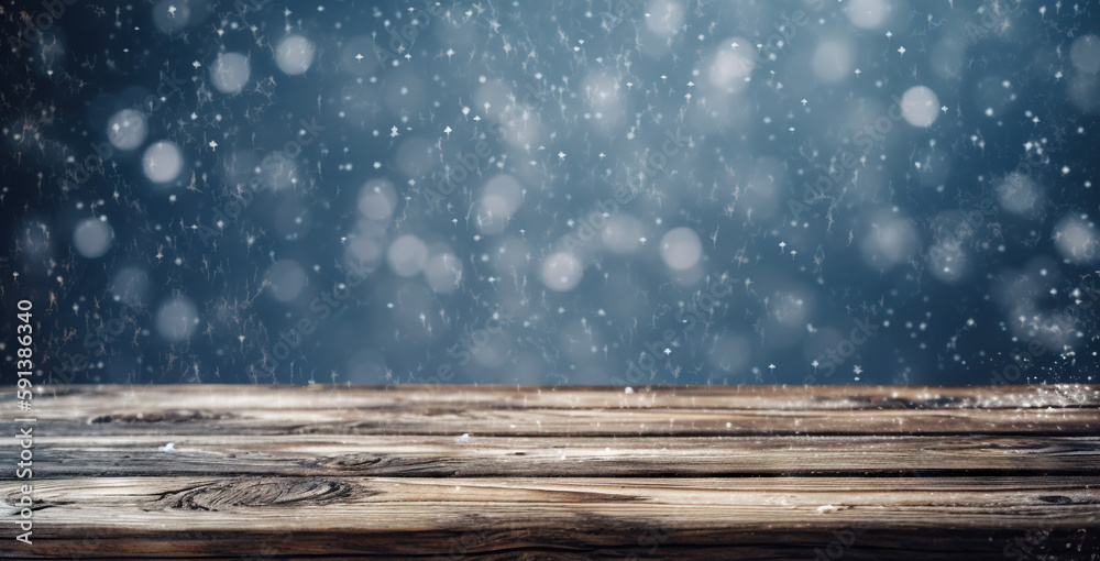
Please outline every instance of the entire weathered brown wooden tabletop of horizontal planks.
M1097 386L65 386L34 416L34 543L0 557L1100 560Z

